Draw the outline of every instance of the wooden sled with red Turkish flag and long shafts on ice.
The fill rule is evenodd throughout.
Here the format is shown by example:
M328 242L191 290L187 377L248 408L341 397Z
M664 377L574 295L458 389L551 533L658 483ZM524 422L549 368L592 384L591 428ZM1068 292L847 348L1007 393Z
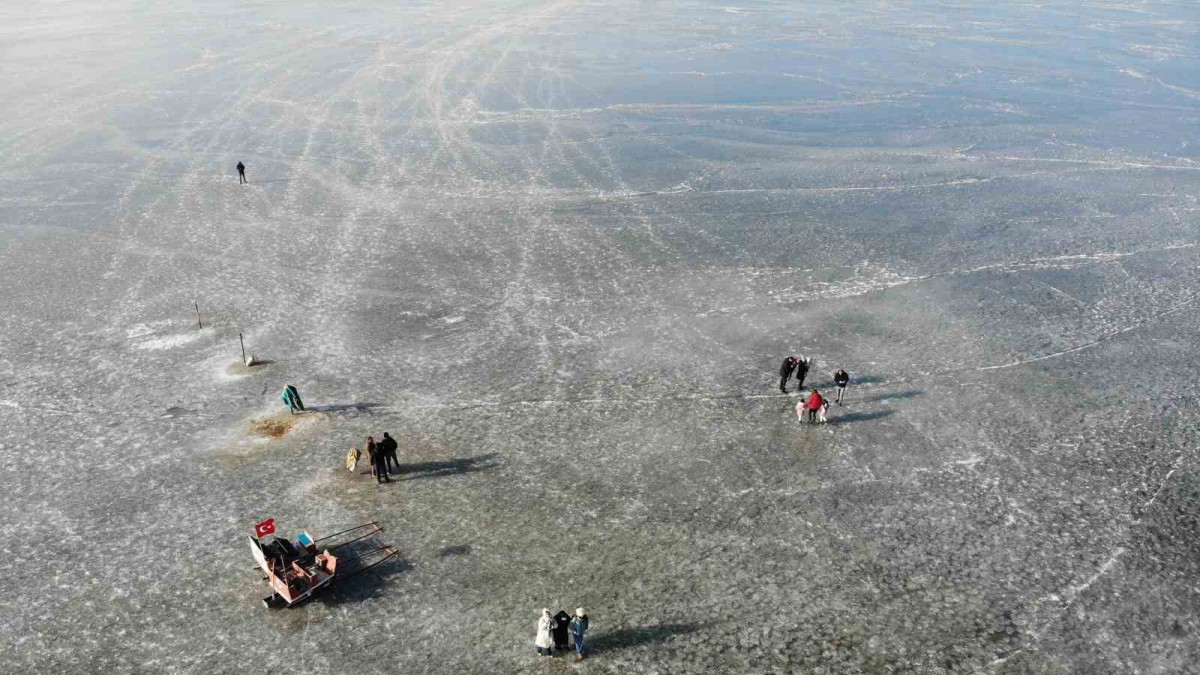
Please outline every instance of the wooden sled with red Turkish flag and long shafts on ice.
M383 527L376 521L319 539L312 538L307 532L300 532L295 542L286 537L264 538L274 532L272 518L259 522L254 527L256 537L250 537L250 551L266 574L263 580L272 591L269 597L263 598L263 607L266 608L295 607L331 587L335 579L356 577L400 555L396 549L374 539L376 534L383 532ZM365 551L337 554L340 549L359 542L374 546Z

